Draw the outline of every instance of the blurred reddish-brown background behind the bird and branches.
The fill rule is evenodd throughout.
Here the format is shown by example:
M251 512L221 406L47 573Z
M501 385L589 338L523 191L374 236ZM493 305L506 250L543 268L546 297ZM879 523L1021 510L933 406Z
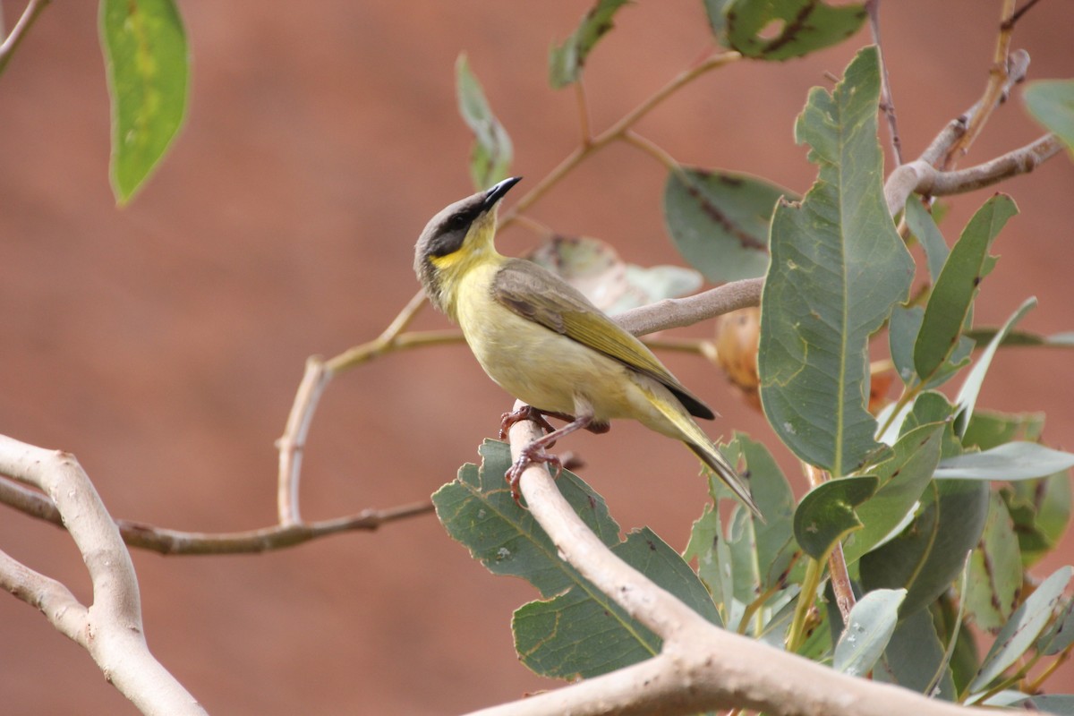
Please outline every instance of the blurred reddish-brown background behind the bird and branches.
M388 324L417 288L418 232L471 190L456 56L469 54L511 133L524 190L578 141L572 92L547 86L547 50L591 3L183 2L189 120L125 209L106 178L96 4L52 4L0 77L0 432L76 453L117 517L190 530L264 526L275 515L273 440L304 360ZM3 11L10 26L21 3ZM982 91L998 12L981 0L885 3L908 156ZM1018 25L1014 46L1031 53L1032 77L1072 75L1072 21L1071 4L1053 1ZM639 2L618 26L586 74L597 129L710 47L695 0ZM867 42L862 32L806 60L712 73L639 130L681 161L802 191L815 170L794 145L794 118L823 73L841 73ZM998 113L971 160L1039 135L1020 104ZM613 146L533 216L610 240L630 262L677 263L663 181L650 158ZM1003 258L977 316L1000 322L1035 294L1041 307L1025 326L1071 330L1074 170L1059 157L1004 189L1022 215L997 244ZM948 240L988 193L954 202ZM512 229L500 248L519 253L535 240ZM418 325L445 321L426 311ZM1070 360L1001 353L985 404L1046 410L1047 438L1074 448ZM710 367L667 362L723 412L714 434L746 430L781 450ZM310 434L304 514L426 497L476 457L509 405L460 347L340 378ZM684 546L703 500L687 451L632 425L572 448L624 528L649 525ZM0 514L0 547L89 597L64 532ZM1068 545L1045 568L1070 559ZM432 517L262 556L137 552L134 561L150 647L213 713L445 714L554 686L511 648L511 611L534 591L489 575ZM0 625L5 713L134 712L30 607L0 598ZM1055 686L1074 688L1071 673Z

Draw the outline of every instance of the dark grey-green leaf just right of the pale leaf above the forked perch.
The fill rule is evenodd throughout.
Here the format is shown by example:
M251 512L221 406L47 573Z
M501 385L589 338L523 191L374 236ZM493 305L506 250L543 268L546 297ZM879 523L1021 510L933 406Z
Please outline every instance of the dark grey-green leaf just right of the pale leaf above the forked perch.
M950 700L955 697L955 685L943 660L943 643L937 635L932 616L928 610L918 610L899 623L873 678L927 693L937 672L942 670L937 688L942 698Z

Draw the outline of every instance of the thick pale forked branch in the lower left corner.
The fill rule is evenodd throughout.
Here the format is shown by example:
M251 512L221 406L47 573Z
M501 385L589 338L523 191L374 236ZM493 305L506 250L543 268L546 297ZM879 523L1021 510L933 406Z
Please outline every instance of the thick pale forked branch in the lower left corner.
M142 713L204 714L149 653L130 553L74 456L0 436L0 472L52 498L89 571L93 603L82 608L61 584L8 555L0 558L0 582L86 648L105 678Z

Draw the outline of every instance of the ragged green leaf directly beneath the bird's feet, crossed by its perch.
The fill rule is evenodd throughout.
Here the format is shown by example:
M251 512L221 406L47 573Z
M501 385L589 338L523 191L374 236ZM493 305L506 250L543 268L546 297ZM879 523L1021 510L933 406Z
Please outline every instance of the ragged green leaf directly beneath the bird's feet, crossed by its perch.
M555 544L529 511L511 497L504 480L511 466L507 443L485 440L478 452L480 469L464 465L453 482L433 495L436 516L452 539L462 542L493 574L521 576L546 597L589 584L560 558ZM599 495L568 470L563 471L556 485L605 544L619 542L619 525Z

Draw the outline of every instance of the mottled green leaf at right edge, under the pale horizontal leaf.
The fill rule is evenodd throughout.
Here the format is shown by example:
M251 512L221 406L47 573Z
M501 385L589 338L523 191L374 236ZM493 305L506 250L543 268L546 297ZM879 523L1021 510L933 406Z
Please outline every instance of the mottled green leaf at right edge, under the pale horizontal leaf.
M1022 567L1031 567L1057 544L1071 518L1071 479L1066 470L1041 480L1020 480L1000 488L1014 521Z

